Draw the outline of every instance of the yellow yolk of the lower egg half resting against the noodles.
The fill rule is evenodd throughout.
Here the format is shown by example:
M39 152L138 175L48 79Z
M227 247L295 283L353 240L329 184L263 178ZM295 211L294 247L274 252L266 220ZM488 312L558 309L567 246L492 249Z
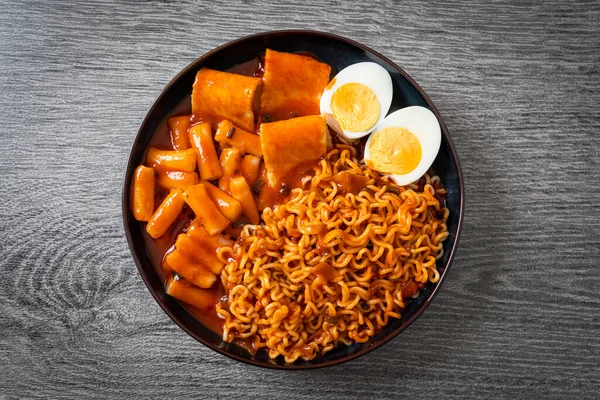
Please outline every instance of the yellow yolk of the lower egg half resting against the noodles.
M421 161L421 142L404 128L385 128L375 133L369 146L367 165L386 174L404 175Z

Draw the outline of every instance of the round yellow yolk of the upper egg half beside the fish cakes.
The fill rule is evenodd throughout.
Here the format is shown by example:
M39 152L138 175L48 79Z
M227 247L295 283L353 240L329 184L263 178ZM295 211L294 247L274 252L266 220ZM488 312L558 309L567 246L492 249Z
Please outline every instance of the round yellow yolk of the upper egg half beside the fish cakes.
M341 128L363 132L379 119L379 101L373 91L361 83L346 83L331 96L331 111Z

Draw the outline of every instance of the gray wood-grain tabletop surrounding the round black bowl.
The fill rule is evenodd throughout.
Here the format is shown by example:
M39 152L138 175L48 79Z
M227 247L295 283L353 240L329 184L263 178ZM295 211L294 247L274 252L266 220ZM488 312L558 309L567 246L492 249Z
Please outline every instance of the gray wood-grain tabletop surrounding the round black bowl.
M0 2L0 398L600 396L600 4L544 3ZM306 372L234 362L171 322L120 204L163 86L218 45L288 28L411 74L454 138L467 200L423 316Z

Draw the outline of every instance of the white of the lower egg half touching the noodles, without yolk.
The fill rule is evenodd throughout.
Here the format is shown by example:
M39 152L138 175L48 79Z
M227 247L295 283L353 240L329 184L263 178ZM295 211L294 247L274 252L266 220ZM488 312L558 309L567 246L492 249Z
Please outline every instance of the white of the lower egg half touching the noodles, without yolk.
M402 108L388 115L373 131L365 145L365 160L370 159L370 146L373 136L386 128L398 127L412 132L421 143L421 160L415 169L407 174L385 174L400 186L408 185L420 177L431 167L442 142L440 123L435 114L420 106Z

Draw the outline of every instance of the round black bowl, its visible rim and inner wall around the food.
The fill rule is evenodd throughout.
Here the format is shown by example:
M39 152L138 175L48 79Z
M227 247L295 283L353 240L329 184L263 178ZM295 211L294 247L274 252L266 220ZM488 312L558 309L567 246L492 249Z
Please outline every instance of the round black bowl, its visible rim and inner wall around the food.
M282 359L271 360L262 352L252 356L236 345L223 342L219 335L198 322L179 302L166 295L162 281L150 261L144 244L142 226L129 211L129 193L133 171L143 162L144 152L158 125L191 93L196 72L202 67L228 70L237 64L255 58L267 48L286 52L311 52L331 65L333 73L361 61L372 61L382 65L392 76L394 86L394 98L390 112L406 106L419 105L433 111L440 122L442 144L433 168L448 190L446 206L450 209L448 219L450 236L443 245L444 256L438 260L440 280L437 284L428 284L417 298L409 302L402 312L402 319L392 319L388 326L367 343L356 343L352 346L342 345L312 361L297 361L293 364L286 364ZM339 364L378 348L406 329L427 308L448 273L458 245L463 207L463 178L458 157L439 112L425 92L406 72L368 47L340 36L314 31L277 31L248 36L229 42L187 66L165 87L144 119L133 143L123 185L123 220L127 241L138 271L162 309L183 330L211 349L248 364L278 369L309 369Z

